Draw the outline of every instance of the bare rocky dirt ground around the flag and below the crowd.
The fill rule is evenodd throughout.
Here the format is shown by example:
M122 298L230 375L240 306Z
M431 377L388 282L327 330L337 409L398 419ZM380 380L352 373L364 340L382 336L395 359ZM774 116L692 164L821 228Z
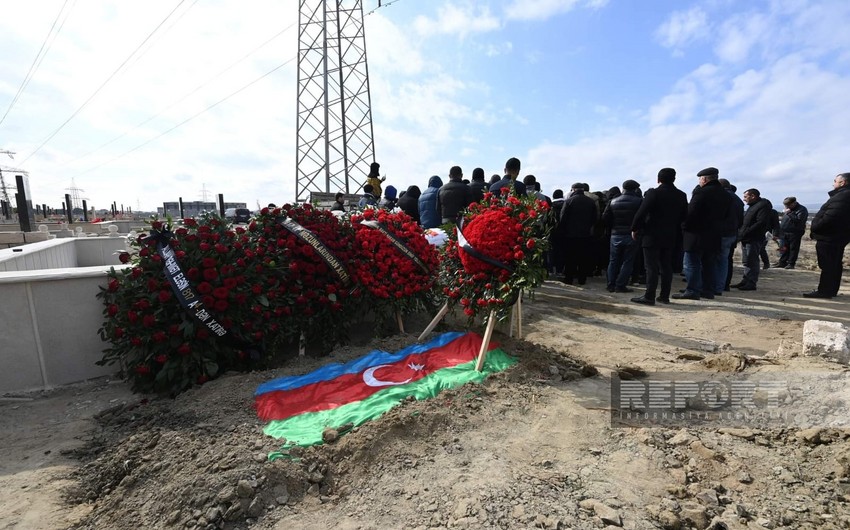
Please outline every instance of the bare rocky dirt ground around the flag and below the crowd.
M850 311L847 295L800 297L817 283L805 250L756 292L670 306L599 278L547 282L523 304L523 339L496 335L515 367L271 462L260 383L400 349L422 322L174 400L107 380L5 396L0 528L850 527L850 375L800 355L805 320ZM612 425L612 377L659 373L793 380L791 416Z

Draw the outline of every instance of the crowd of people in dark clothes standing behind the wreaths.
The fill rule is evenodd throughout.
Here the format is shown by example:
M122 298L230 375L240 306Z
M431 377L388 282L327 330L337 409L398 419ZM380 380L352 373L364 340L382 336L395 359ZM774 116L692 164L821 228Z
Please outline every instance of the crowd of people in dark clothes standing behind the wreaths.
M720 178L717 168L697 173L698 183L688 200L676 187L676 171L663 168L657 185L643 193L640 183L626 180L622 188L590 191L585 183L573 184L565 193L556 189L544 195L534 175L520 179L519 159L505 163L502 176L485 181L482 168L472 179L453 166L448 181L434 175L424 191L418 186L398 190L380 176L380 165L372 163L363 186L359 208L400 208L423 228L454 223L463 210L481 200L486 191L498 193L512 187L517 195L530 195L552 206L555 228L550 235L550 274L567 284L584 285L588 277L604 276L612 293L630 293L630 285L645 284L637 304L669 304L670 299L701 300L722 296L735 288L758 289L763 268L794 269L800 244L808 226L809 212L795 197L782 201L782 212L757 188L738 196L736 186ZM829 199L811 222L821 270L817 289L807 298L832 298L838 294L844 249L850 243L850 173L833 181ZM343 195L337 194L333 209L343 210ZM771 264L768 247L775 243L778 260ZM743 275L732 284L735 252L740 245ZM672 292L673 275L684 275L685 288Z

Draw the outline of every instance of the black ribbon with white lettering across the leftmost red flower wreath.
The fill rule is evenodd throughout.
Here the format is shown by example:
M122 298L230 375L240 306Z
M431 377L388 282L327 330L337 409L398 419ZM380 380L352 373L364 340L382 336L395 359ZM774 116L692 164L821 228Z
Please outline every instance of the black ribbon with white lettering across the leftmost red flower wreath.
M171 284L171 290L174 291L174 296L177 301L183 306L192 317L201 323L204 327L210 330L216 337L225 341L225 343L234 348L245 350L253 359L259 359L261 348L253 345L237 336L227 329L204 307L201 297L189 284L189 279L183 274L180 268L180 263L177 262L177 256L174 254L174 249L171 248L171 238L174 234L169 230L151 230L148 238L156 241L156 250L162 258L163 273Z

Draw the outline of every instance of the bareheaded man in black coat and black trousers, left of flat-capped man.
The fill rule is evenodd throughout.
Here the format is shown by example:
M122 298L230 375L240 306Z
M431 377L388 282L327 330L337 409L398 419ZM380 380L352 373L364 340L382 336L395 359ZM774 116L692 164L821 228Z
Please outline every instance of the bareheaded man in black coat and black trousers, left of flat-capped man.
M661 274L658 301L670 303L673 283L673 249L688 213L688 197L676 188L676 170L665 167L658 172L658 187L648 190L632 221L632 238L640 237L646 265L646 292L632 302L655 305L655 290Z

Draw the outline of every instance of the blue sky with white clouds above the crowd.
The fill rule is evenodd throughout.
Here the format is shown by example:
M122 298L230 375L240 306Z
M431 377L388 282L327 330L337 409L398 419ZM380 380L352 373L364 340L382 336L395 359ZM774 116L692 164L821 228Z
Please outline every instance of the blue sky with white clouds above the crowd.
M363 0L384 187L518 157L549 195L647 189L662 167L690 191L714 166L778 208L823 203L850 171L846 0L377 4ZM4 2L7 184L26 171L54 208L66 193L143 211L293 201L297 21L279 0Z

